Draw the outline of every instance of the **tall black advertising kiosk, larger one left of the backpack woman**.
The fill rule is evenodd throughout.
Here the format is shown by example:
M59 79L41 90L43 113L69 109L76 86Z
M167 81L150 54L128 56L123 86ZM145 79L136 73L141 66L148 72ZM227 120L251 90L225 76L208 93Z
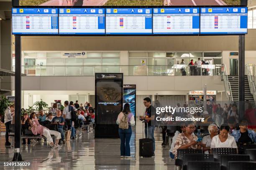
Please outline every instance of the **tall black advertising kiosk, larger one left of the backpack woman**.
M122 109L123 73L95 73L95 138L119 138Z

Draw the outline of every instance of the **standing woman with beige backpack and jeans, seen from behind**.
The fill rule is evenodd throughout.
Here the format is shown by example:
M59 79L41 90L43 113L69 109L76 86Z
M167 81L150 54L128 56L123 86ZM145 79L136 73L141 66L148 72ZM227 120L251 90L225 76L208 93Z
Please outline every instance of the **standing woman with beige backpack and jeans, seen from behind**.
M123 106L123 111L119 113L116 123L119 125L119 136L121 140L121 158L131 158L130 140L132 135L131 126L135 125L134 116L131 113L129 103Z

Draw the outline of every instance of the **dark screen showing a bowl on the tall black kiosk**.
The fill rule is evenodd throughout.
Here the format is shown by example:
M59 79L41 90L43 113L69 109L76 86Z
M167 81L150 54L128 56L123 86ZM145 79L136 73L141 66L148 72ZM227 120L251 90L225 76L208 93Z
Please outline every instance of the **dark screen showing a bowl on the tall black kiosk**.
M121 81L114 80L96 83L97 124L116 125L116 119L123 107L122 86Z

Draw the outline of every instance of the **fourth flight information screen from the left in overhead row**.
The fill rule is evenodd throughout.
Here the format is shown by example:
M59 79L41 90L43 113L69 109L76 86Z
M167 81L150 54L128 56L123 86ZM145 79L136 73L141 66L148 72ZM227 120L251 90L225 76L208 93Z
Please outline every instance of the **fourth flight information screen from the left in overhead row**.
M199 34L199 20L199 7L154 8L153 34Z

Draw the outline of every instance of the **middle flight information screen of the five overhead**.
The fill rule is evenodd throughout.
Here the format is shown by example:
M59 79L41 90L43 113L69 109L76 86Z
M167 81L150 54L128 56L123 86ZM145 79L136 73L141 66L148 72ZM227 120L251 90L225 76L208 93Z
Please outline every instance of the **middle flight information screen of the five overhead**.
M151 35L152 9L107 8L107 35Z

